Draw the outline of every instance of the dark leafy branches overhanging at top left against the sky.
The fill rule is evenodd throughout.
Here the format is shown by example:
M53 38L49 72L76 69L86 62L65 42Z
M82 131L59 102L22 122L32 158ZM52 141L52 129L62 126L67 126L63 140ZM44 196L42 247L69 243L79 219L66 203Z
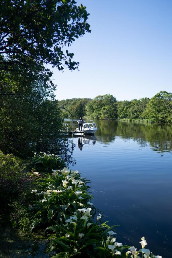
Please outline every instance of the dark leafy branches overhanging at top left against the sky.
M0 8L1 70L19 69L26 58L37 64L75 69L73 53L63 47L90 32L86 7L74 0L3 0Z

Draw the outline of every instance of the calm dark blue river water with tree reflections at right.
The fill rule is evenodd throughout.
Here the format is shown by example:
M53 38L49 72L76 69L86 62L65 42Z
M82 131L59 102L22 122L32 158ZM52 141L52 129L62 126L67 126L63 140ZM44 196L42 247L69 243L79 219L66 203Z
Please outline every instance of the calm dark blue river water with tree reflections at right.
M172 126L95 121L94 136L74 138L73 170L91 180L94 206L117 241L172 257Z

